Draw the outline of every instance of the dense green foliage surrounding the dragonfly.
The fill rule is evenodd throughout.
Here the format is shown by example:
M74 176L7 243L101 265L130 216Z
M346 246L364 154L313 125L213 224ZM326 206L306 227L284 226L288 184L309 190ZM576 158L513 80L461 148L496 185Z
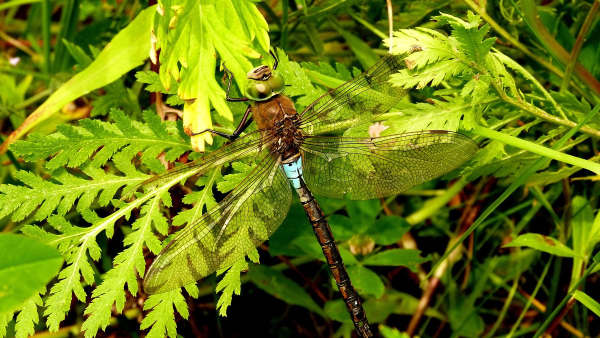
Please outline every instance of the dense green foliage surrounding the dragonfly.
M400 196L319 198L372 326L598 335L600 2L480 3L392 1L393 37L374 0L0 4L0 336L348 336L297 199L248 260L142 291L172 234L252 161L135 190L227 142L188 136L231 133L245 111L223 62L239 96L274 50L301 111L388 49L407 66L391 82L413 90L382 134L460 131L479 151Z

